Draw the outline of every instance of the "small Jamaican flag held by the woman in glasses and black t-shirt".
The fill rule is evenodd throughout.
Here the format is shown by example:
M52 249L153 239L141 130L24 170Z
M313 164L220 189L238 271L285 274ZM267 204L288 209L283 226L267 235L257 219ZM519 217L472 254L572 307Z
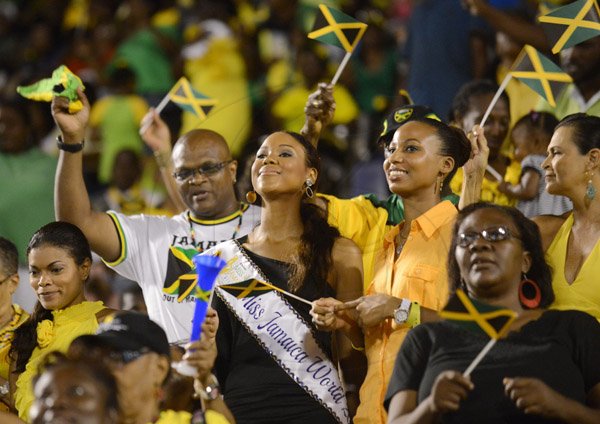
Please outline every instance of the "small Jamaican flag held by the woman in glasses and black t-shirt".
M517 317L517 313L511 309L478 302L460 289L450 297L439 315L467 330L483 332L494 340L504 337Z

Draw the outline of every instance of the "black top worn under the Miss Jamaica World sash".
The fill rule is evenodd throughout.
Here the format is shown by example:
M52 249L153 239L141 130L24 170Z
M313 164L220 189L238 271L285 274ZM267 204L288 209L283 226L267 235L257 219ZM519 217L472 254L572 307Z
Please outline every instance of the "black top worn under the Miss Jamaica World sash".
M289 264L243 250L271 284L289 290ZM318 289L316 284L305 284L296 294L307 300L334 296L327 283L320 287L324 289ZM310 307L291 298L286 300L312 326ZM216 374L227 406L238 424L336 422L258 344L218 296L214 298L214 306L219 314ZM313 334L323 351L331 357L331 334L316 330Z

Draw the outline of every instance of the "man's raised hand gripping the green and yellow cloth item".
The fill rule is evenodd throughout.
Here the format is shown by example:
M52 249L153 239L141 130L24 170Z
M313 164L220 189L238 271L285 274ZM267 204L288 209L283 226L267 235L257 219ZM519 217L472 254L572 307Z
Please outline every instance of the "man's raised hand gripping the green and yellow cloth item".
M50 106L52 117L60 129L65 143L81 143L85 138L85 131L90 120L90 103L81 87L77 88L77 95L83 104L83 109L75 113L69 113L69 99L66 97L54 96L52 98Z

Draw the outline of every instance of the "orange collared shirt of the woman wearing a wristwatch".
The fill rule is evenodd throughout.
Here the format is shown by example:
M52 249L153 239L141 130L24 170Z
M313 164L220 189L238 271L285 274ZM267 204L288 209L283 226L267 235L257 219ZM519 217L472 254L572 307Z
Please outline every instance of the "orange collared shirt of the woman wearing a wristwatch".
M443 201L411 222L400 256L394 260L394 239L403 224L395 226L383 241L375 278L367 293L384 293L440 310L448 300L446 263L457 210ZM383 400L396 355L409 328L388 319L365 331L368 369L360 389L355 424L385 423Z

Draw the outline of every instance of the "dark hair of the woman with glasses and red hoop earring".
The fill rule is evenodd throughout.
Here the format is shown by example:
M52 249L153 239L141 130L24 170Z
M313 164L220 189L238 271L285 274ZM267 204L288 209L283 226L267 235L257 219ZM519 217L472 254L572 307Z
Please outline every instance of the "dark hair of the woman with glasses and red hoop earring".
M550 268L544 258L544 249L542 248L542 237L538 226L527 218L516 208L509 206L500 206L494 203L479 202L473 203L458 213L454 230L452 231L452 243L448 253L448 282L450 284L450 292L454 293L456 289L461 287L461 275L458 262L456 260L456 248L458 242L458 229L463 221L473 212L480 209L494 209L506 215L515 224L521 236L523 250L531 255L531 267L527 271L527 277L535 281L542 293L540 308L547 308L554 302L554 291L552 290L552 276ZM522 305L523 308L529 309Z

